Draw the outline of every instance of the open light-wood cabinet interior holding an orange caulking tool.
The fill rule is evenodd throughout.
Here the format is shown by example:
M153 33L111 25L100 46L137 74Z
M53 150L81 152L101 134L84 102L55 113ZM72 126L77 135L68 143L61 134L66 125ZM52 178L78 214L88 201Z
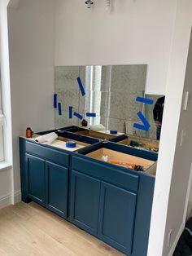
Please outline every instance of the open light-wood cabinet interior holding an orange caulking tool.
M135 157L133 155L117 152L108 148L99 148L94 152L89 152L86 157L91 157L99 161L106 161L113 165L123 166L124 168L133 169L133 166L142 166L144 172L155 175L156 162L142 157ZM129 165L133 164L133 166Z

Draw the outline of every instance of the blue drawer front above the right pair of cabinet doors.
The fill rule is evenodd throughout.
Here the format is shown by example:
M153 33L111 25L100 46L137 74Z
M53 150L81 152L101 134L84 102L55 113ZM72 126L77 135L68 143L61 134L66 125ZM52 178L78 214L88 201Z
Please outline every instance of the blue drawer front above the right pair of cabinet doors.
M84 174L91 175L97 179L102 179L108 183L113 183L121 188L137 192L139 177L116 169L116 167L107 167L81 157L72 157L72 168L81 171Z

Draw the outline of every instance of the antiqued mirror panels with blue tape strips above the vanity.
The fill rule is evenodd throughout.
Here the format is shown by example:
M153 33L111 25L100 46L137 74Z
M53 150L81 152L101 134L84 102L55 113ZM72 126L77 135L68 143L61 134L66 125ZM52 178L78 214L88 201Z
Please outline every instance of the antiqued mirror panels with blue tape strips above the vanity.
M159 139L164 97L145 94L146 73L147 64L55 67L55 94L61 104L60 110L55 108L55 128L75 125ZM150 128L134 127L146 125L139 112Z

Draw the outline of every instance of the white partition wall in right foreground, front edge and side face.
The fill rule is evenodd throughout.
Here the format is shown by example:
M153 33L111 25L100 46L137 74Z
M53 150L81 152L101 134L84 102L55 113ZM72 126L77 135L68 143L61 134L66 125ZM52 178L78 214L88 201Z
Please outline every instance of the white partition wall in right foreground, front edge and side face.
M159 149L155 195L151 217L148 255L172 255L172 250L185 225L185 198L190 177L192 136L190 104L181 109L183 89L191 89L191 49L189 66L185 68L190 42L192 2L177 1L177 15L168 71L164 121ZM181 116L180 116L181 115ZM179 127L178 127L179 126ZM181 143L181 130L186 131ZM168 234L171 232L168 245Z

